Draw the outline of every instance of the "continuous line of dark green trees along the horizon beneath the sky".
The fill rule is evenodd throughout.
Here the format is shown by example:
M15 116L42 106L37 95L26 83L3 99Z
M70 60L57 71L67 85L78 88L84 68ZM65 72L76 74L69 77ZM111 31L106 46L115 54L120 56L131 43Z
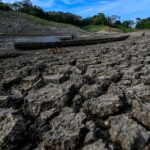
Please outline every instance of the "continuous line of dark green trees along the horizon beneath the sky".
M117 15L106 16L104 13L98 13L92 17L82 18L79 15L65 12L48 11L45 12L41 7L33 5L30 0L16 1L14 3L4 3L0 0L0 11L18 11L27 13L39 18L61 23L68 23L79 27L89 25L106 25L113 28L133 28L150 29L150 18L137 18L136 23L132 20L121 22Z

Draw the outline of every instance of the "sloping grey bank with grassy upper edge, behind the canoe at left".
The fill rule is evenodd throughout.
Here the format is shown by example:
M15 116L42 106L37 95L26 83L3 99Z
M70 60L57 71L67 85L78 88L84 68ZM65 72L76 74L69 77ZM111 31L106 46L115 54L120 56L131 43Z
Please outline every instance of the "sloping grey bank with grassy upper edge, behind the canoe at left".
M5 34L49 34L49 35L79 35L85 33L78 27L47 21L20 12L0 12L0 33Z

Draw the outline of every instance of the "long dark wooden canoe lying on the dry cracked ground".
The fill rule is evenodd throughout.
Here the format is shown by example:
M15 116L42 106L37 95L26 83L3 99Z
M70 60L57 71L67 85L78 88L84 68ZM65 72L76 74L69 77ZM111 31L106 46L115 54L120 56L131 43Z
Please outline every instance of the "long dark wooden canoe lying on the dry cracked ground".
M33 50L33 49L46 49L55 47L69 47L69 46L83 46L83 45L93 45L107 42L122 41L129 37L129 35L116 36L116 37L106 37L106 38L93 38L93 39L73 39L73 40L63 40L59 42L15 42L14 46L19 50Z

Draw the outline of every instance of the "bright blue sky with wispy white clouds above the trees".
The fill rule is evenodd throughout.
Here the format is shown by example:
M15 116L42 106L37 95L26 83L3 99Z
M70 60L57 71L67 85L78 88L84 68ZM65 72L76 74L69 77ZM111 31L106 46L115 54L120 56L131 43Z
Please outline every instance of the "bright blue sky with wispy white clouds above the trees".
M45 11L64 11L90 17L103 12L107 16L118 15L121 20L150 17L150 0L31 0ZM14 0L3 0L14 2Z

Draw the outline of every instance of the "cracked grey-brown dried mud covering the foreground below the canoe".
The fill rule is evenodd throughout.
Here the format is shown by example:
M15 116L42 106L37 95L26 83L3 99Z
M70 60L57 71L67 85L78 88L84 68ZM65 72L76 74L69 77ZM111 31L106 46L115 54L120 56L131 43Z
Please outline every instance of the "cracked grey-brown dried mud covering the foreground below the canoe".
M0 150L150 150L150 34L2 57Z

